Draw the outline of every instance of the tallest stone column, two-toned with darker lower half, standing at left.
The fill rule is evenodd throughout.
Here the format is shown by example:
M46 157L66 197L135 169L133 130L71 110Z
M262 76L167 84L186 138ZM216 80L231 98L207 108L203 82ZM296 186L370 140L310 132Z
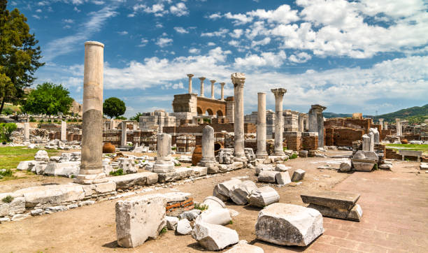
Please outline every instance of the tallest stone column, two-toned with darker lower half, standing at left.
M82 160L75 182L107 182L103 172L103 68L104 44L85 43L83 73Z

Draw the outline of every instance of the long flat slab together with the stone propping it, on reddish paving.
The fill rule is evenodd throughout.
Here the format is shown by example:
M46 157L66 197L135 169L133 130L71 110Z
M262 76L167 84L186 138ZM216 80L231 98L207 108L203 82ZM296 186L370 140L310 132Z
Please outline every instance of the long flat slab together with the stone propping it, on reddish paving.
M362 208L357 205L359 194L343 191L313 191L300 196L304 203L310 204L308 208L318 210L322 216L356 222L362 218Z

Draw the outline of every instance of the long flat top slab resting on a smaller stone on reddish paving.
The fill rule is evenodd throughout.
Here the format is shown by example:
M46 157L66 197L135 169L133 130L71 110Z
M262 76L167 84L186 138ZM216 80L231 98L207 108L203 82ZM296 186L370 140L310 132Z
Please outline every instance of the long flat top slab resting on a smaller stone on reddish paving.
M300 195L307 204L327 206L328 208L350 210L359 199L359 194L343 191L311 191Z

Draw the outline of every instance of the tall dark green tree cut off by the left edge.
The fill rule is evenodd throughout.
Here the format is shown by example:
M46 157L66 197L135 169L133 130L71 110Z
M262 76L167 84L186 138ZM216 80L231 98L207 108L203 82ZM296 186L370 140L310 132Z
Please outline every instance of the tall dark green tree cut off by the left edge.
M29 33L27 17L17 8L7 10L7 4L7 0L0 0L0 73L10 79L14 89L0 87L0 113L5 102L22 101L24 88L34 82L34 73L44 65L38 41Z

